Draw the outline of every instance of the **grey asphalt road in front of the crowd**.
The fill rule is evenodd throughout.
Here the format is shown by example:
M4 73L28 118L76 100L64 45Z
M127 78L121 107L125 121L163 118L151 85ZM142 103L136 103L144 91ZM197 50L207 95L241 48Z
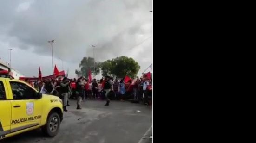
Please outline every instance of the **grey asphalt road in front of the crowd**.
M75 100L70 102L57 136L45 137L37 129L0 143L138 143L152 125L152 109L142 104L86 100L76 110Z

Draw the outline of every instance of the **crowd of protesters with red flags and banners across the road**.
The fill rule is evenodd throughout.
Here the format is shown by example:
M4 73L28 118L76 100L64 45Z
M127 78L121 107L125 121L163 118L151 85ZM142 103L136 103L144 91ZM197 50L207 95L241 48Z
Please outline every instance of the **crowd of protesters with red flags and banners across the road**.
M81 101L88 99L106 100L105 106L111 100L131 100L135 103L152 105L152 78L144 75L136 79L113 79L106 76L100 80L90 81L85 77L78 79L55 78L34 82L33 87L40 93L58 96L63 100L64 111L69 106L69 99L77 99L77 109L81 109Z

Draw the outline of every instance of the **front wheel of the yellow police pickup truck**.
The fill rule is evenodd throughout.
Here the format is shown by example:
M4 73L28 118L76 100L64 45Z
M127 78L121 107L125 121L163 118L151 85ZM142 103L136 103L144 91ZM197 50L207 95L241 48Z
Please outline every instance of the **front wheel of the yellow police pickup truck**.
M59 114L52 112L47 118L46 125L42 127L42 131L49 137L54 137L59 132L60 118Z

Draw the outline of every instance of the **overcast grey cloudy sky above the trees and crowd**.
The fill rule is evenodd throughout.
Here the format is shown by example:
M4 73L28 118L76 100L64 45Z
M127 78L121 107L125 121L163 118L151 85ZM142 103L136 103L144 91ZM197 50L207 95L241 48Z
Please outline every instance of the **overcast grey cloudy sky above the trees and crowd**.
M52 74L54 64L69 77L84 56L105 61L134 58L141 69L153 61L152 0L0 0L0 58L26 76Z

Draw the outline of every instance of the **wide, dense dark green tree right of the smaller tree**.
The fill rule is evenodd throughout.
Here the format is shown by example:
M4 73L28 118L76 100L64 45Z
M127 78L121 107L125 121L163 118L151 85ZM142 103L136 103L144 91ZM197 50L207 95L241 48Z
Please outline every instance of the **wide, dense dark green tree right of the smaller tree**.
M120 56L101 63L102 76L110 75L123 78L125 75L128 75L135 78L139 69L138 62L127 56Z

